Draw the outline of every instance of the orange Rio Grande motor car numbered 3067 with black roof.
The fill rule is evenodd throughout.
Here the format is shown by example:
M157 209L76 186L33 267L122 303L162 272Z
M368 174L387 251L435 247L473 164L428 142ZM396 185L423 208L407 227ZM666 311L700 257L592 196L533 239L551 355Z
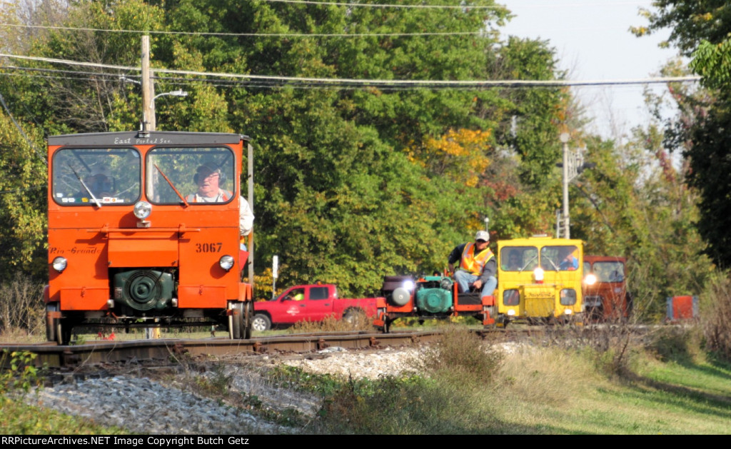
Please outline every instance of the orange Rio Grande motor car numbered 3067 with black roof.
M249 338L240 250L248 141L208 132L48 137L48 340L68 344L82 325L227 325L232 339Z

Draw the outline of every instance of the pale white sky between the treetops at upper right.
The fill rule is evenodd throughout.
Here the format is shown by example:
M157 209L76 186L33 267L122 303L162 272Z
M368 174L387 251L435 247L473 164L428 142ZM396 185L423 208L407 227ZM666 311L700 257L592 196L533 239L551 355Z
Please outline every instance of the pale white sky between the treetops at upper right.
M651 9L651 0L497 1L515 15L503 29L504 36L548 40L556 49L559 69L569 71L569 80L651 78L677 53L658 47L669 30L645 37L629 32L630 26L648 25L638 11L640 7ZM653 89L662 92L664 85ZM594 118L589 132L616 138L649 121L642 85L572 90Z

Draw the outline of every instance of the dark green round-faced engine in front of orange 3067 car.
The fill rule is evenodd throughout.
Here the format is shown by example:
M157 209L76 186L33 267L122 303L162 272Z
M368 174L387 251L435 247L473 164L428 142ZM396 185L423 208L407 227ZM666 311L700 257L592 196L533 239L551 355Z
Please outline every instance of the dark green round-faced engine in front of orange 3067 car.
M114 301L140 312L164 310L173 300L172 273L130 270L114 275Z

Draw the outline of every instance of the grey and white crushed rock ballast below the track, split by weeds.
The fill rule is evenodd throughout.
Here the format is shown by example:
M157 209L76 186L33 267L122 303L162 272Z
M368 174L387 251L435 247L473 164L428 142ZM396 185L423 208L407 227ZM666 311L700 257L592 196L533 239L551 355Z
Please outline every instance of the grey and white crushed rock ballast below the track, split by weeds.
M349 352L330 348L317 357L282 361L265 358L265 363L286 363L304 371L341 377L376 379L412 370L418 350ZM208 372L203 375L214 376ZM253 369L232 365L227 371L232 390L257 396L272 410L291 408L313 418L321 405L314 395L274 388ZM221 404L189 390L184 382L170 385L135 377L135 374L76 380L37 390L26 401L70 415L91 418L103 426L118 426L141 434L291 434L292 429L269 423L245 410Z

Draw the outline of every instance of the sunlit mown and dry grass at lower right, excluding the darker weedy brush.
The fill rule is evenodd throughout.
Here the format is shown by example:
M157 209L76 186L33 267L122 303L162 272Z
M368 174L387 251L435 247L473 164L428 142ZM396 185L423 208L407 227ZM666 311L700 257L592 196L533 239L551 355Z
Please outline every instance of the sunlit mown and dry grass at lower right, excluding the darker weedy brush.
M662 361L651 350L631 363L617 376L590 353L557 347L510 358L498 376L504 388L490 395L500 427L539 434L731 433L728 363L702 353Z

